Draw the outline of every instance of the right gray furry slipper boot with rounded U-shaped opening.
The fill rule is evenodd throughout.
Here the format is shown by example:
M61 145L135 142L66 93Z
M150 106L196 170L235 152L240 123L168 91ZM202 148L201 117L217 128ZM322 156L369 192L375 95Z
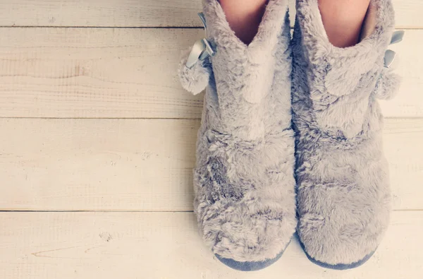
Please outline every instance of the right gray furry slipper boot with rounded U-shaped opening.
M293 36L298 236L325 268L360 266L372 256L391 210L383 117L377 99L398 90L391 0L372 0L361 42L328 40L317 0L297 1Z

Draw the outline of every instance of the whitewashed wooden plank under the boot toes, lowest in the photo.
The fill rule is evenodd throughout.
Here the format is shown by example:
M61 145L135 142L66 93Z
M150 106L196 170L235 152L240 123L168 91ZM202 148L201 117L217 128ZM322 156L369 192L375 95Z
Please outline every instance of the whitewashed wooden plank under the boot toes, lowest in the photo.
M0 213L0 222L4 279L423 276L423 212L417 211L393 213L374 256L343 273L314 265L296 239L269 268L234 271L204 246L192 213Z

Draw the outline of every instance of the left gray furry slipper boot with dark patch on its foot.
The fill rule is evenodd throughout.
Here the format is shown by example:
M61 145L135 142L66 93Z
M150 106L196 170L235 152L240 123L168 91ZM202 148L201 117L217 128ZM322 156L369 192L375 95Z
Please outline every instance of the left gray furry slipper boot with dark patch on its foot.
M207 87L194 170L200 233L241 271L274 263L297 225L287 2L269 0L247 46L219 2L203 0L207 39L180 66L186 90Z

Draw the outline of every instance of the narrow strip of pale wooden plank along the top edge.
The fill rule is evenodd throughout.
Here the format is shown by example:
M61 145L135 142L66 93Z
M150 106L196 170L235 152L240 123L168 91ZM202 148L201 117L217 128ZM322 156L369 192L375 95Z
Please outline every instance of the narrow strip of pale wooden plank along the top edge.
M398 28L423 27L421 1L393 4ZM201 10L200 0L1 0L0 26L200 27ZM293 21L294 0L290 11Z

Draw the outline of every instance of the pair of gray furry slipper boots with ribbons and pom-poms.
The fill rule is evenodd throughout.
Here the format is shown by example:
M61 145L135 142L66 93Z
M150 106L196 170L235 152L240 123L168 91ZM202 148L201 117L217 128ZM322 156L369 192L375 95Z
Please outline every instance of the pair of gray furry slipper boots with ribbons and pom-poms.
M398 88L386 52L393 8L372 0L361 42L341 49L329 43L317 0L297 1L291 40L287 4L269 0L246 45L219 1L203 0L207 38L179 73L186 90L207 87L195 213L204 241L232 268L269 266L295 231L314 263L353 268L372 256L389 220L376 99Z

